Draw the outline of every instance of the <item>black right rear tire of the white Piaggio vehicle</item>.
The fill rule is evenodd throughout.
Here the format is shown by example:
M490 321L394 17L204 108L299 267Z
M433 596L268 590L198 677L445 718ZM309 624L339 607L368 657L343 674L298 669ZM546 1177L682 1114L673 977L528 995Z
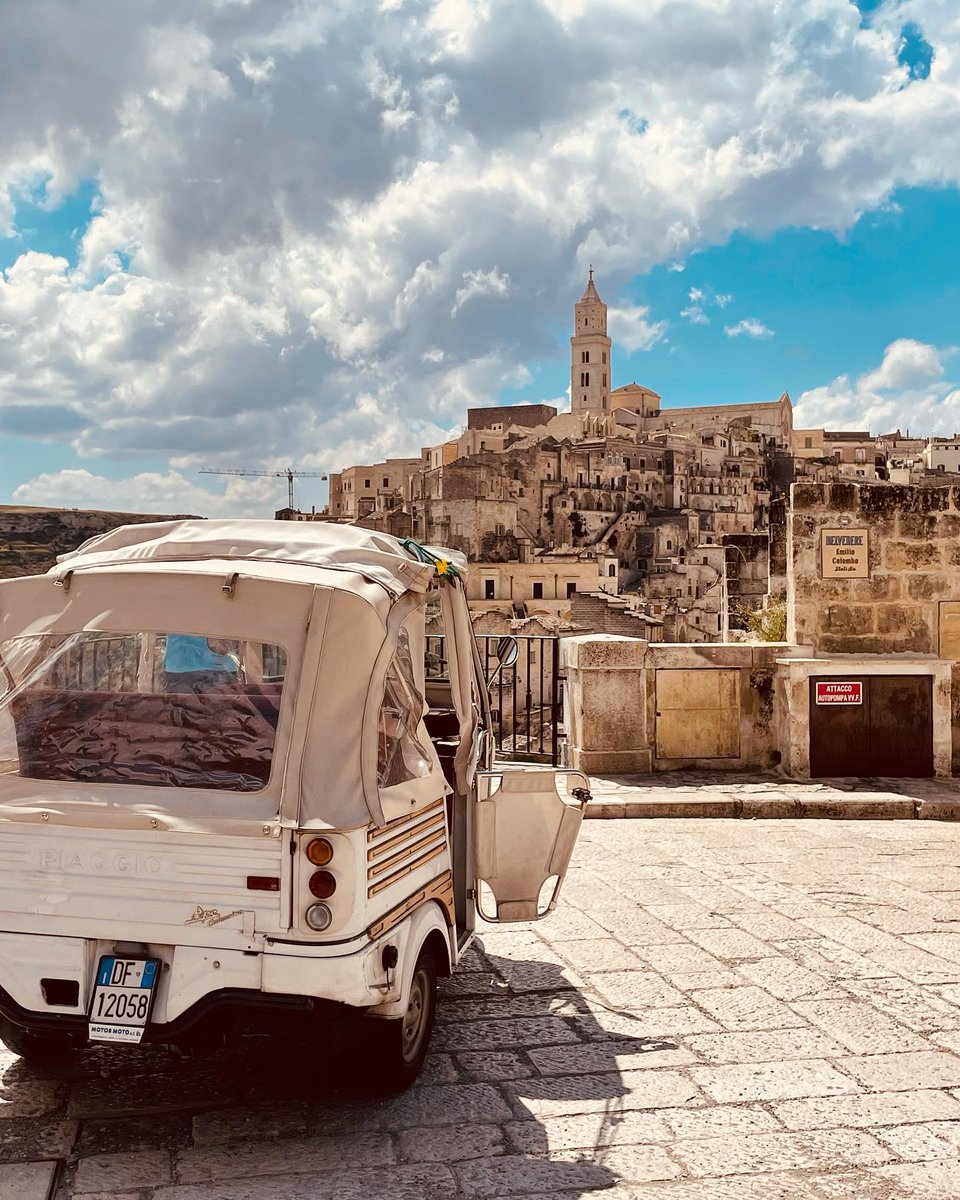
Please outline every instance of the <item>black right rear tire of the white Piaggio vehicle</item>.
M383 1096L406 1091L420 1074L430 1049L437 1015L437 960L428 947L416 958L410 998L403 1016L382 1020L370 1016L370 1068L372 1086Z

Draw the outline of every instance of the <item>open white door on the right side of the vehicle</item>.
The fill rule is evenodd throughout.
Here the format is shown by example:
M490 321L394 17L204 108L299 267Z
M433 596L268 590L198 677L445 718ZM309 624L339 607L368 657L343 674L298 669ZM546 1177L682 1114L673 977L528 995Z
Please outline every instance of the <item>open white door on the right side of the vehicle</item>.
M556 907L589 781L576 770L481 772L476 781L476 911L487 922L539 920Z

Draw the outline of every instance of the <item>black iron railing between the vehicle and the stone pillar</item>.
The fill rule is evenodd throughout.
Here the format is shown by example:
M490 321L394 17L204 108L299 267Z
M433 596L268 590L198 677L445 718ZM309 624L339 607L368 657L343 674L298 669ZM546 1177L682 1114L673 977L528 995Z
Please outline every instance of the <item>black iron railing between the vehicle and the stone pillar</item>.
M516 636L517 661L497 671L497 643L503 634L478 634L484 677L493 710L497 757L515 762L559 766L563 722L560 640L550 636ZM446 677L445 635L427 635L427 678ZM496 672L496 676L494 676Z

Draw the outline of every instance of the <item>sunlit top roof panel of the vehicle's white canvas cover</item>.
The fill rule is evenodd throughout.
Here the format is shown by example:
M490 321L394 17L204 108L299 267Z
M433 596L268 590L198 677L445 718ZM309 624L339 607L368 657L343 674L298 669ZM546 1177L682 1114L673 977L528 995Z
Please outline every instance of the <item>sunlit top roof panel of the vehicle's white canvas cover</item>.
M466 559L437 551L460 572ZM434 574L390 534L326 521L158 521L120 526L61 554L48 574L132 562L257 559L355 571L394 595L425 592Z

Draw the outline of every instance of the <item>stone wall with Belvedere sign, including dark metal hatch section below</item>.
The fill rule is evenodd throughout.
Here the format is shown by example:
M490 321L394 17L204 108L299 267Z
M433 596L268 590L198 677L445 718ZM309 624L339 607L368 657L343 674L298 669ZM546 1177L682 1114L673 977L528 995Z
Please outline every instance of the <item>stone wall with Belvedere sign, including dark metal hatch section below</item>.
M839 775L960 769L959 546L956 486L794 485L787 638L809 646L811 655L791 662L784 679L790 769ZM856 688L853 716L832 719L829 704L814 694L815 684L827 688L830 680ZM854 718L859 725L851 731ZM836 745L829 744L832 726ZM864 745L870 769L817 767L818 754L834 754L842 767L844 755ZM914 762L916 755L924 762Z

